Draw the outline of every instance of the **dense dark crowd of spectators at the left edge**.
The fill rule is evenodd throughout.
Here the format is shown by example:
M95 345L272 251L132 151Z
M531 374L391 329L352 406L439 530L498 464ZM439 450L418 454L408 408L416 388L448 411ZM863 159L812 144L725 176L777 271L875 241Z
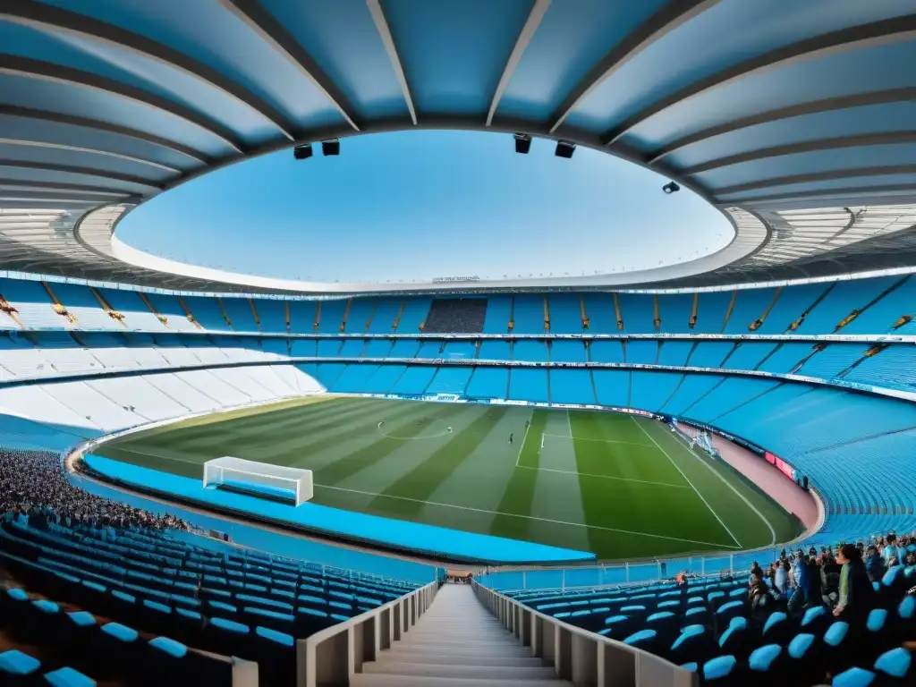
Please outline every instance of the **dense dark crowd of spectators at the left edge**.
M41 527L54 522L66 527L187 529L168 513L158 516L71 485L60 454L0 448L0 518L27 515Z

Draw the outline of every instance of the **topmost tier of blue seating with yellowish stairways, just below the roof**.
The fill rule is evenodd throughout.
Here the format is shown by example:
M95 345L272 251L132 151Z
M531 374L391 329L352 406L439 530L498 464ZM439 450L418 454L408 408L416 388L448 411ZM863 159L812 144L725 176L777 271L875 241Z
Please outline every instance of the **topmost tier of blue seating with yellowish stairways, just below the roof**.
M698 294L275 300L0 278L0 328L236 333L914 333L916 279ZM65 313L65 314L64 314ZM18 322L17 322L17 320Z

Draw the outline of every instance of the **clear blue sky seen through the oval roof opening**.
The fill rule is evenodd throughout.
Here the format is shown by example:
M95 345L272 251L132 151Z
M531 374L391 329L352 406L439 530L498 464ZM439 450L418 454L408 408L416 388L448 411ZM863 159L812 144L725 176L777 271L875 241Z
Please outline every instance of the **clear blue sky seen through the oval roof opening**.
M204 267L316 281L594 274L726 245L725 218L666 179L580 147L411 131L354 136L338 158L289 150L192 180L139 207L128 245Z

